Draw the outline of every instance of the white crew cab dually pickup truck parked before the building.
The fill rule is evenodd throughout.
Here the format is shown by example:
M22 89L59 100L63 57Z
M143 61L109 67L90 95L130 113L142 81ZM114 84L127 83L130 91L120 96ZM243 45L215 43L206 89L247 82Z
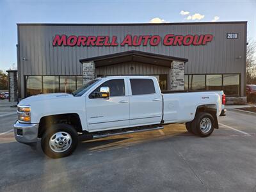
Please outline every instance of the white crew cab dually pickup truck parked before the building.
M112 76L84 84L72 94L49 93L23 99L14 125L20 143L41 147L52 158L65 157L79 140L163 129L186 123L191 134L218 129L225 95L220 92L161 93L156 77Z

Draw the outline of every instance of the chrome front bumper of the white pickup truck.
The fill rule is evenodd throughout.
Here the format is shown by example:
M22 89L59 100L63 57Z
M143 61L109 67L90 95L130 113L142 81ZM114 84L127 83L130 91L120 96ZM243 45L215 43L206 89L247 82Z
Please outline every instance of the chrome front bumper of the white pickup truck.
M20 124L19 121L13 125L15 139L27 145L36 145L39 124Z

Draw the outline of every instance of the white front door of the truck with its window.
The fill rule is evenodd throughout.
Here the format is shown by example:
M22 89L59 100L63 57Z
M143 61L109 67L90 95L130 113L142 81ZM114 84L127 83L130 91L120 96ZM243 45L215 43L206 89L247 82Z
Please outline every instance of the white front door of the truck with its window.
M88 129L118 129L129 125L129 96L125 89L125 78L109 79L100 84L86 97ZM100 87L109 87L109 99L93 98Z

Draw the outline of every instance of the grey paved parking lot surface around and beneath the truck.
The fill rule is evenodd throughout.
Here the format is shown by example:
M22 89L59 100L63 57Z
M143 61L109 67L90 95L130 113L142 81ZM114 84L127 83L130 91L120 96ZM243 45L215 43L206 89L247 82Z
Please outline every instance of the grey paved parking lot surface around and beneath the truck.
M228 111L208 138L183 124L80 143L50 159L15 141L0 100L0 191L255 191L256 116ZM8 114L8 115L7 115Z

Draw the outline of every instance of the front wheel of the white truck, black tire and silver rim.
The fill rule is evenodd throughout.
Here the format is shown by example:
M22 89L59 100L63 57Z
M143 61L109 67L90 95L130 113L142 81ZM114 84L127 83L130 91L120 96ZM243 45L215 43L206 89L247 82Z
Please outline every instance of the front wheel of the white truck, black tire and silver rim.
M56 136L57 133L59 136ZM69 137L71 137L71 140L67 139ZM59 145L61 145L61 147L64 149L60 149L61 147L58 148L59 146L56 147L55 145L50 146L49 141L51 138L56 142L60 143ZM41 147L44 153L48 157L55 159L55 158L70 156L72 152L74 152L74 150L76 149L77 143L78 143L77 131L76 129L74 129L74 127L68 124L53 124L51 125L51 127L47 127L47 131L45 131L44 135L42 136ZM60 151L56 152L54 151L53 148L55 148L55 150L60 150Z

